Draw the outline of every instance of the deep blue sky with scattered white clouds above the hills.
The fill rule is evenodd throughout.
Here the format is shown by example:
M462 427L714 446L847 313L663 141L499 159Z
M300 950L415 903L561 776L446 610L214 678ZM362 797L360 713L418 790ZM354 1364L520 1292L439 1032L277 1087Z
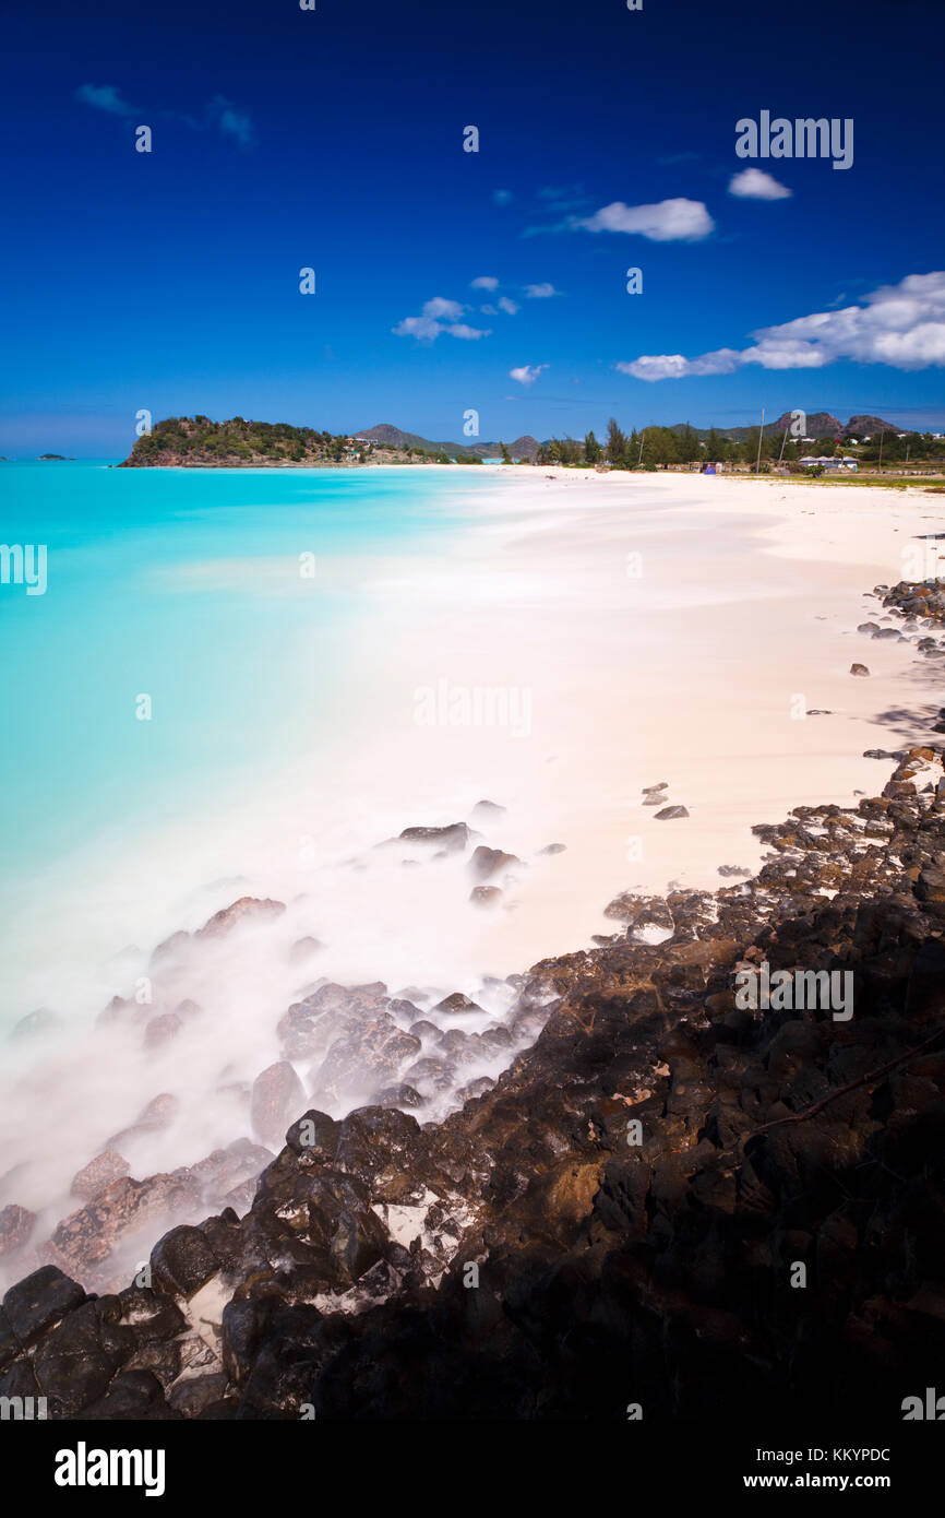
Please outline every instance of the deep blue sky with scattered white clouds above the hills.
M2 454L123 455L141 408L945 425L942 0L56 0L5 39ZM852 167L739 159L763 109L852 118Z

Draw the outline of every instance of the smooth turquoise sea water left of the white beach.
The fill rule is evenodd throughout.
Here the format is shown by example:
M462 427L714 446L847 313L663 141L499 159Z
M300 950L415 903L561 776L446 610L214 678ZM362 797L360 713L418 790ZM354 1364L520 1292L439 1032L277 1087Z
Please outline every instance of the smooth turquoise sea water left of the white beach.
M417 468L2 463L0 542L46 545L47 587L0 584L0 896L317 745L370 594L358 562L455 530L487 486Z

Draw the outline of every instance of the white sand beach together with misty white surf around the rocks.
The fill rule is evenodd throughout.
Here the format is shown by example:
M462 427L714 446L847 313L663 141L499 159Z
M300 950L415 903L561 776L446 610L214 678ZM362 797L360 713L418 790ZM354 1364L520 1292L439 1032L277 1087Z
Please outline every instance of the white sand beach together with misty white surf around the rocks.
M132 1146L135 1175L244 1132L235 1082L279 1058L279 1017L322 978L426 988L426 1002L413 997L425 1016L466 991L488 1014L466 1023L478 1031L508 1008L482 976L616 931L604 908L620 891L713 890L731 883L721 865L754 871L754 823L877 794L892 762L863 750L928 735L936 665L856 628L883 621L865 592L916 577L916 534L942 527L937 496L516 468L496 471L475 505L476 525L435 556L320 565L328 586L370 592L329 744L247 783L237 814L83 855L33 903L32 1005L65 1011L74 1040L11 1047L5 1145L14 1170L30 1157L21 1204L74 1207L74 1169L159 1091L181 1099L181 1117L153 1148ZM854 662L868 679L849 674ZM493 692L491 721L488 707L475 720L476 691ZM660 821L642 805L660 782L689 817ZM473 817L482 798L507 811ZM502 891L491 905L470 902L469 849L376 847L457 821L520 861L487 882ZM540 853L548 844L564 852ZM187 1038L146 1052L140 1028L99 1031L100 1057L85 1058L93 1017L152 973L155 943L241 896L287 912L208 950L190 979L155 981L155 1014L181 997L203 1009ZM323 947L302 967L291 944L306 935ZM50 967L59 994L41 984ZM30 1114L50 1107L39 1154Z

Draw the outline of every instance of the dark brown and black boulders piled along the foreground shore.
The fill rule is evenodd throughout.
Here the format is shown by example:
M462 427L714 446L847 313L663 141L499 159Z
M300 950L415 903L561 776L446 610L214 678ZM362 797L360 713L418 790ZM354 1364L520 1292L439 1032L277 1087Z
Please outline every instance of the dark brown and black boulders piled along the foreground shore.
M942 657L936 581L877 594ZM68 1249L12 1286L0 1395L79 1419L899 1418L945 1351L945 770L934 742L877 757L880 795L755 829L757 876L617 897L613 937L511 976L522 1052L443 1122L403 1082L303 1111L287 1070L329 1002L379 1067L422 1063L425 1032L381 985L293 1006L252 1204L171 1228L123 1289L86 1292ZM742 1005L761 967L851 975L852 1016ZM438 1040L446 1016L475 1037L466 1013ZM249 1187L261 1155L221 1155ZM109 1179L80 1227L171 1179Z

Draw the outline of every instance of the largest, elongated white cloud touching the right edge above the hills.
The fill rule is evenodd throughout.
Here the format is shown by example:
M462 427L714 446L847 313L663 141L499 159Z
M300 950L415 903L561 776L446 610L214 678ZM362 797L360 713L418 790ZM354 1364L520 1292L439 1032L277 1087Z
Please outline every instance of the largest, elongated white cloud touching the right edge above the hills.
M890 369L945 367L945 270L907 275L898 285L880 285L860 305L763 326L752 337L751 348L719 348L698 358L643 354L614 367L636 380L733 373L745 364L824 369L840 358Z

